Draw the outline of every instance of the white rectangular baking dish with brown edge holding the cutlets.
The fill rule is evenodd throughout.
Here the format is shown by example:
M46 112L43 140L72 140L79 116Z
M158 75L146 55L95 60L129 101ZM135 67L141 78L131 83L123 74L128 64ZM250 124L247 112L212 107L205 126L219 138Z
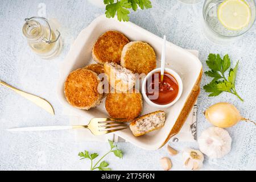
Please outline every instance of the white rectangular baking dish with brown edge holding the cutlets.
M83 68L88 64L95 63L92 59L92 47L96 40L109 30L122 32L131 41L140 40L149 43L156 52L158 67L160 67L160 53L162 38L144 30L131 22L119 22L116 18L109 19L105 15L99 16L84 30L81 31L73 43L67 57L60 69L60 80L57 86L57 93L61 103L76 111L82 117L88 118L84 124L88 124L91 118L109 117L105 110L105 100L102 104L88 111L79 110L68 104L64 94L64 82L69 73L76 69ZM192 53L180 48L170 42L166 46L166 67L174 69L183 81L183 94L176 104L168 109L165 126L142 137L134 137L129 129L118 131L116 134L123 139L146 150L157 150L168 140L177 134L183 126L188 114L193 108L200 93L200 81L202 76L202 64ZM159 109L150 107L144 102L143 114L148 114Z

